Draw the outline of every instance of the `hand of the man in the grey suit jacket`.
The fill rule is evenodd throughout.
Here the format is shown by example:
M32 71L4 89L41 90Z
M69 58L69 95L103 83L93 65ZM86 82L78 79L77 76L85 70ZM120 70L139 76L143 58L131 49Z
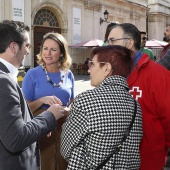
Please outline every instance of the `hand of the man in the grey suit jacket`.
M64 108L59 104L53 104L47 109L47 111L50 111L54 115L56 120L64 116Z

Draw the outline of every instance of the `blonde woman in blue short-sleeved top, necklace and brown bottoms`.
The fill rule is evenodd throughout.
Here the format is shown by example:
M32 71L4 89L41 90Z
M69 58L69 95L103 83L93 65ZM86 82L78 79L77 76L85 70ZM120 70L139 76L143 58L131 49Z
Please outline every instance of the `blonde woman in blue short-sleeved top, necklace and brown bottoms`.
M35 115L55 103L68 106L74 99L74 76L69 70L71 58L64 37L58 33L47 33L37 57L39 66L26 73L22 84L23 93ZM42 170L54 170L56 167L64 170L67 167L60 156L58 143L64 120L58 122L52 137L40 141Z

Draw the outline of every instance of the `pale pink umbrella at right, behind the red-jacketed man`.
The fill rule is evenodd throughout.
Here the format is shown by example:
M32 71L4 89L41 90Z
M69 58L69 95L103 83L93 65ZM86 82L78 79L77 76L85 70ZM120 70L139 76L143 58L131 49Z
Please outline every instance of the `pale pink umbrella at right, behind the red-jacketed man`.
M163 48L167 44L168 43L165 41L159 41L159 40L153 39L153 40L146 41L145 46L150 47L150 48Z

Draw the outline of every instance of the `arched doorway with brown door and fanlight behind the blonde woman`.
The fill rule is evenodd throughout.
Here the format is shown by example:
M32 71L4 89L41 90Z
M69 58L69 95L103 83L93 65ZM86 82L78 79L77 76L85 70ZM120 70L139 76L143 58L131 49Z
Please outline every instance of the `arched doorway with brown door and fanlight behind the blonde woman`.
M34 18L34 67L37 66L37 54L44 34L57 32L61 34L58 20L49 9L40 9Z

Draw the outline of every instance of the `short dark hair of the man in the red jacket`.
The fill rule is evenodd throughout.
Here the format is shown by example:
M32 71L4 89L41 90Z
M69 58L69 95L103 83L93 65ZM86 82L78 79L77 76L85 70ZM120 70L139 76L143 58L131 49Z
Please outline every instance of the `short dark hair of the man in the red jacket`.
M141 35L137 27L131 23L117 24L115 27L122 28L124 37L129 37L134 40L134 47L136 50L140 50Z

